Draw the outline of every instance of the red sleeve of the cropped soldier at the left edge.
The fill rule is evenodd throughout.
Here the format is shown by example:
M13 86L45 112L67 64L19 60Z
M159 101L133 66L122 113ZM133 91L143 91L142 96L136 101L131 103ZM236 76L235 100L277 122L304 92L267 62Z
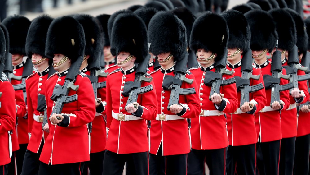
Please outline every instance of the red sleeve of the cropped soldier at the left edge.
M10 82L4 81L0 83L0 91L2 92L0 98L0 134L2 134L15 127L15 92Z

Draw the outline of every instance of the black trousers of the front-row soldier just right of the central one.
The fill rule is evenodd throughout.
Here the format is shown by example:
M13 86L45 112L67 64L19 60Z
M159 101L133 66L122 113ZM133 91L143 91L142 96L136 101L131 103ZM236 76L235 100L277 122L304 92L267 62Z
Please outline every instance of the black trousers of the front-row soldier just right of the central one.
M209 167L210 175L225 175L226 173L227 147L214 150L194 150L188 154L187 174L203 175L204 164Z

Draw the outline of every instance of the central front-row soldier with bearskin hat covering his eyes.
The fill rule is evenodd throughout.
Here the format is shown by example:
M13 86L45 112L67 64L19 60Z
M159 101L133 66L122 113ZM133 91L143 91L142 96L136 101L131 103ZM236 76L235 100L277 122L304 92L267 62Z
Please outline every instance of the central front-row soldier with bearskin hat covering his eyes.
M161 66L151 73L157 94L158 110L151 128L150 174L185 175L187 154L191 149L186 118L197 117L200 112L198 94L195 94L196 81L186 68L188 59L186 28L173 12L158 12L151 19L148 32L151 43L149 51L156 55ZM193 81L192 84L182 81L177 83L179 80L177 78L171 81L164 79L180 74L175 72L175 69L183 69L184 80L190 79ZM177 101L170 103L170 98L174 99L171 96L172 89L169 89L171 84L178 84L182 89L192 89L195 92L180 95Z

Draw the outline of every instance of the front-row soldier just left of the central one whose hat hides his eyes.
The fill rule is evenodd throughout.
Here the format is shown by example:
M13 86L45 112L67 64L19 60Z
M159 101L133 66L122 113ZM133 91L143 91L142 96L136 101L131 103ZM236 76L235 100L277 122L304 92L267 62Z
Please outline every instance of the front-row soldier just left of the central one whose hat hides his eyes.
M111 72L107 78L108 138L104 154L104 174L122 174L126 161L131 167L131 174L148 174L149 142L145 120L154 120L156 116L155 87L153 81L134 81L135 74L139 73L136 70L141 68L140 64L149 59L147 29L142 19L133 12L121 13L113 21L111 53L117 56L120 68ZM135 63L139 63L139 67ZM145 72L146 69L147 64L140 71ZM146 74L144 79L148 77L150 76ZM131 87L150 85L153 90L138 97L133 94L131 100L135 102L127 103Z

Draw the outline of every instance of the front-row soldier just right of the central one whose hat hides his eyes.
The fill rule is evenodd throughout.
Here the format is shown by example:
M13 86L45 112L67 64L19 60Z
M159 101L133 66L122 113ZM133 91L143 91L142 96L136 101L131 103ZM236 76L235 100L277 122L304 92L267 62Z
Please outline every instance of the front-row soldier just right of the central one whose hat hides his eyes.
M217 23L208 28L207 24ZM207 30L206 30L207 29ZM200 66L190 69L195 76L199 90L201 113L192 120L192 151L188 155L188 174L202 174L204 160L210 174L225 174L228 147L226 116L237 110L236 85L224 85L219 93L211 92L208 77L214 75L216 63L225 58L228 41L228 26L225 19L215 13L206 12L196 19L191 33L190 47L196 52ZM226 69L224 61L223 69ZM209 75L210 74L210 75ZM209 76L208 76L209 75ZM233 75L223 75L223 79ZM211 79L210 79L211 80ZM212 83L211 83L212 84Z

